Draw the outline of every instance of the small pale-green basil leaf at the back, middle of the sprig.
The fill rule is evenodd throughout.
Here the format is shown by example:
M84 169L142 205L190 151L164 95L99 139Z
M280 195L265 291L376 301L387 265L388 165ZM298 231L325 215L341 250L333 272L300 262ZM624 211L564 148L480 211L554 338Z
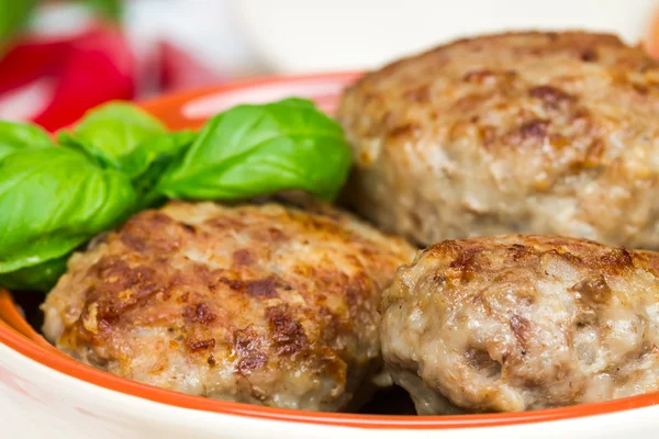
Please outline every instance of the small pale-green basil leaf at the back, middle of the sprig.
M72 132L62 131L60 145L80 149L103 167L122 169L123 158L137 145L165 134L160 121L127 102L114 101L88 111Z

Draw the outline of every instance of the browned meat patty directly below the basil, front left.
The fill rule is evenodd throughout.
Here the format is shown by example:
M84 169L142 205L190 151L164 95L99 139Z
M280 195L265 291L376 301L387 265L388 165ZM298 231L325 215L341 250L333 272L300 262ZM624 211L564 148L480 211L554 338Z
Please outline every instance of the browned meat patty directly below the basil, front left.
M355 218L170 203L75 255L42 306L75 358L164 389L338 410L381 365L378 304L413 250Z

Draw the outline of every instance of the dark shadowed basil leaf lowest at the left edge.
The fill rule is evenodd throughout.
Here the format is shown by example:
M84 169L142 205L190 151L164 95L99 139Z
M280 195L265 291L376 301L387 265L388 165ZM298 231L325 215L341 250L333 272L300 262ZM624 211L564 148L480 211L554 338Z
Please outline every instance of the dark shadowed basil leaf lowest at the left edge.
M0 274L0 285L12 291L51 291L66 271L68 255Z

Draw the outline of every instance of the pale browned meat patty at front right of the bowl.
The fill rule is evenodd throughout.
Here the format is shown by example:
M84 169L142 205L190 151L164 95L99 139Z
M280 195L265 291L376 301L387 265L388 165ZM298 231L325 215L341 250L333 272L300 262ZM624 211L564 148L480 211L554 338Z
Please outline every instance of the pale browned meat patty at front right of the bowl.
M382 354L420 414L659 391L659 254L584 239L447 240L384 293Z

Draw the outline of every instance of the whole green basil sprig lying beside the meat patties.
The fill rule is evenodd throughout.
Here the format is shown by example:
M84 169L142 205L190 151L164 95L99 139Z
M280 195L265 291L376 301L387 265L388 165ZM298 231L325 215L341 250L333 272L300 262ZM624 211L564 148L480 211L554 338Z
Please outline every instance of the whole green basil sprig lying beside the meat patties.
M238 105L170 133L112 102L48 135L0 122L0 285L47 291L71 251L166 199L336 195L350 167L340 126L308 100Z

